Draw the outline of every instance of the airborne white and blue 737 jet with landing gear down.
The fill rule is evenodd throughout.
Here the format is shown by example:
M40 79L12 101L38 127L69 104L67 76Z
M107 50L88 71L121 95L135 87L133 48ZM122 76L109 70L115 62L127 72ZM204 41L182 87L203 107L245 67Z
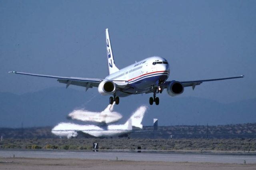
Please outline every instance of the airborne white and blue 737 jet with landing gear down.
M184 87L192 87L194 90L196 85L200 85L206 81L218 81L226 79L242 78L244 75L236 77L226 77L218 79L204 79L195 81L167 81L170 75L170 66L163 57L148 57L142 61L133 63L123 69L118 69L115 64L112 46L110 43L110 36L108 29L106 29L106 47L108 58L108 73L109 75L104 79L81 78L81 77L60 77L53 75L41 75L34 73L23 73L18 71L9 71L9 73L16 73L22 75L32 75L39 77L49 77L57 79L58 82L69 85L77 85L86 88L97 87L101 95L112 95L109 98L109 103L112 105L116 102L119 104L119 97L126 97L134 94L153 93L153 97L149 98L149 104L159 105L159 98L157 93L162 93L167 89L168 95L174 97L184 92Z

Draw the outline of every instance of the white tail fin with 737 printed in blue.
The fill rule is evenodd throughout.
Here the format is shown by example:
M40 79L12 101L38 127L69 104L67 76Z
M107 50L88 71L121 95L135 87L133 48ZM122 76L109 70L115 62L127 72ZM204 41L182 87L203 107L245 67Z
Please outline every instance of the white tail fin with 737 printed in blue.
M106 45L107 45L107 55L108 55L108 74L112 74L118 71L119 69L115 65L110 38L108 34L108 28L106 29Z

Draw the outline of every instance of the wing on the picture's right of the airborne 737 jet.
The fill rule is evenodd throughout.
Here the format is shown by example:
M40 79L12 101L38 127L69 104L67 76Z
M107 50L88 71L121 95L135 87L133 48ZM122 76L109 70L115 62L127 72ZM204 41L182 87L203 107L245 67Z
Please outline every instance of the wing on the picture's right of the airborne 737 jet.
M218 81L218 80L226 80L226 79L237 79L237 78L242 78L242 77L244 77L244 75L240 75L240 76L236 76L236 77L225 77L225 78L219 78L219 79L204 79L204 80L194 80L194 81L180 81L180 83L182 83L182 85L184 87L192 86L192 89L194 90L196 85L200 85L201 83L206 82L206 81ZM168 84L170 82L171 81L164 82L164 87L167 88Z

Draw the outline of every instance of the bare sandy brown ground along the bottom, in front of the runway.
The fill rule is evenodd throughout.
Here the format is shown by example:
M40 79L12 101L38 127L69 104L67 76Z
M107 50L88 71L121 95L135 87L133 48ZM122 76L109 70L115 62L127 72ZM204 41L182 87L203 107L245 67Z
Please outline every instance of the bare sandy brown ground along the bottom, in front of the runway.
M255 170L256 164L0 157L1 170Z

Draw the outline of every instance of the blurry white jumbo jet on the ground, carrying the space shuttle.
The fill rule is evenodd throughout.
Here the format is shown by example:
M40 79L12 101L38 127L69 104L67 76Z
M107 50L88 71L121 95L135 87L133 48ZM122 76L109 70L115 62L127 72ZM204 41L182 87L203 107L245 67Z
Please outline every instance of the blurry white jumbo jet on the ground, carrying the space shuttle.
M122 136L137 131L133 130L133 127L142 128L141 122L146 110L146 106L139 107L123 125L108 125L104 128L96 125L59 123L56 127L52 128L52 133L67 138L76 137L79 133L94 137Z

